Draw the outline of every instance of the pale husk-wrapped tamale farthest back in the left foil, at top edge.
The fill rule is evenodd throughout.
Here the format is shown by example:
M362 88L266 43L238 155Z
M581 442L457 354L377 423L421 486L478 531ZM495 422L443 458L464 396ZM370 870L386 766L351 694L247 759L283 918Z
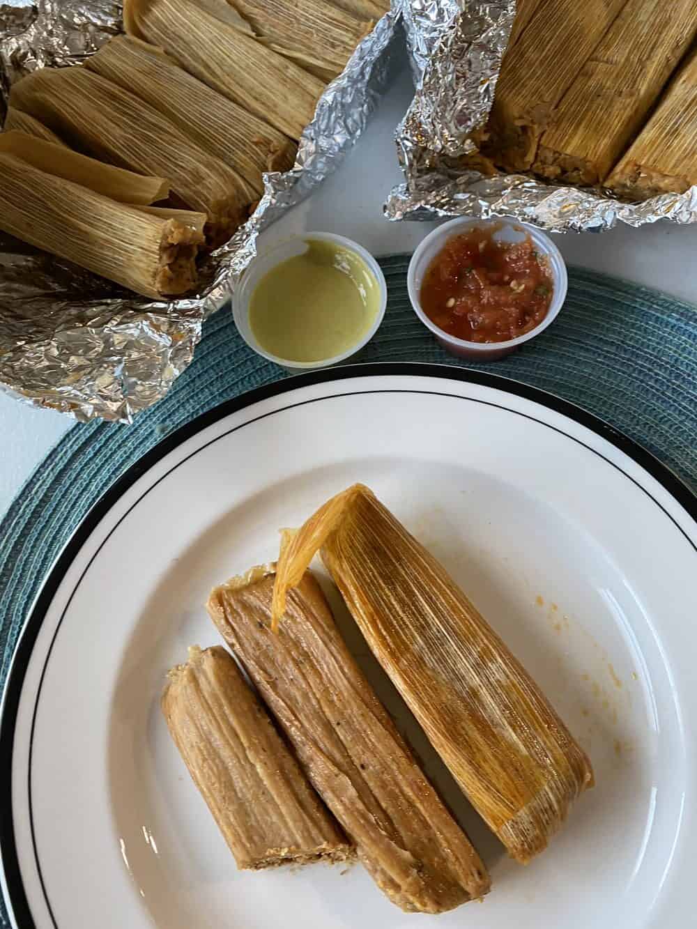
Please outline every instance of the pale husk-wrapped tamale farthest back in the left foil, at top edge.
M329 0L228 0L265 45L331 80L373 28Z

